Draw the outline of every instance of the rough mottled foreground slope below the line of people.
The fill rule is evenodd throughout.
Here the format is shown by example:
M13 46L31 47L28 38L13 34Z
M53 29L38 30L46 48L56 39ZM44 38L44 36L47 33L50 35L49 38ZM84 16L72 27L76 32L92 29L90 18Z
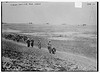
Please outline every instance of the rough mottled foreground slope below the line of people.
M24 45L13 41L2 41L3 70L18 71L95 71L94 61L82 56L72 55L66 52L57 51L56 55L50 55L47 50L37 48L27 48ZM11 62L10 68L6 68L6 59ZM12 63L15 61L15 63ZM20 62L21 61L21 62ZM17 63L18 62L18 63ZM7 62L9 63L9 62ZM7 64L6 63L6 64ZM16 65L18 68L15 69ZM30 68L31 67L31 68Z

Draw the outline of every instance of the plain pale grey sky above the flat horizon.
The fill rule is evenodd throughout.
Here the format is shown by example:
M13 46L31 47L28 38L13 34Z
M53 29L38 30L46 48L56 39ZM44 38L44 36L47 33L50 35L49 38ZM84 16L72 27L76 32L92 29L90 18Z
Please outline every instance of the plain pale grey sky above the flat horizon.
M76 8L74 2L3 2L2 20L5 23L34 24L89 24L96 25L96 2L82 3Z

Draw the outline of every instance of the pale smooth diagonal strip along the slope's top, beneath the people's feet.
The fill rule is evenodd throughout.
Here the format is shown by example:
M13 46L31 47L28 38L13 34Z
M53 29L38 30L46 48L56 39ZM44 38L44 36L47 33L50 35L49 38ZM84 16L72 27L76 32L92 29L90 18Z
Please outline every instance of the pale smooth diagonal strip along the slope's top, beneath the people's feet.
M12 40L6 40L3 39L5 41L10 41L12 43L18 44L20 46L24 46L27 47L26 44L23 43L18 43L18 42L14 42ZM34 48L38 49L37 46L34 46ZM33 49L33 48L30 48ZM43 51L48 52L47 48L42 48ZM84 57L84 56L80 56L80 55L75 55L75 54L71 54L71 53L67 53L67 52L62 52L62 51L57 51L55 55L53 55L56 58L60 58L63 60L68 60L70 62L74 62L75 64L77 64L78 66L82 67L82 68L91 68L91 67L97 67L97 61ZM97 68L96 68L97 69Z

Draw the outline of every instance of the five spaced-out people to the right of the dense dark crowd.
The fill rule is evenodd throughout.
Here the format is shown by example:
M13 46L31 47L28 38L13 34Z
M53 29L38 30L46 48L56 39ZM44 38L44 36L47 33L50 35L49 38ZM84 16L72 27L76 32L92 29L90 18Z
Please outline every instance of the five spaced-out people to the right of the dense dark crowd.
M33 39L32 40L28 39L26 41L26 43L27 43L27 47L33 47L34 46L34 40ZM49 53L55 54L56 49L54 47L52 48L51 41L49 41L47 45L48 45L47 48L49 50ZM39 49L41 49L41 41L40 41L40 39L38 40L37 46L38 46Z

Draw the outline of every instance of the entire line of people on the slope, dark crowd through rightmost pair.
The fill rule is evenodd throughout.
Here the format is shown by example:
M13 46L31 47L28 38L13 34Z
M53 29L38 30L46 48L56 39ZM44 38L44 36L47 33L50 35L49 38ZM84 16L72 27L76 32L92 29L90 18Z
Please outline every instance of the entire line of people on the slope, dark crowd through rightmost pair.
M24 35L18 35L18 34L7 34L6 35L6 34L4 34L3 37L5 37L6 39L9 39L9 40L16 41L16 42L26 42L27 47L34 47L34 40L29 39L27 36L24 36ZM41 49L40 39L38 40L37 46L38 46L39 49ZM52 48L51 41L48 42L47 48L49 50L49 53L55 54L56 49L54 47Z

